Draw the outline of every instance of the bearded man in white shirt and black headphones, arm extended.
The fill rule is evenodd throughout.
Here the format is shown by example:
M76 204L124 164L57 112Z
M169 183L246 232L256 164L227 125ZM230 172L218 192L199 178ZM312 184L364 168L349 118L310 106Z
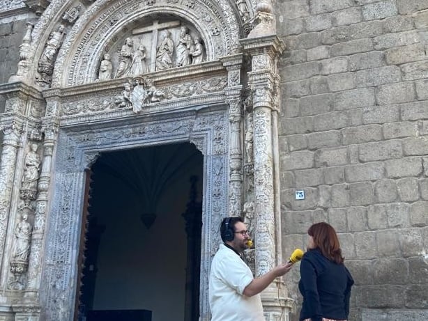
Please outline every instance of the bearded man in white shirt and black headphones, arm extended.
M243 219L223 219L220 235L224 244L215 253L209 278L211 321L264 321L260 292L289 272L293 263L278 265L254 279L241 257L250 239Z

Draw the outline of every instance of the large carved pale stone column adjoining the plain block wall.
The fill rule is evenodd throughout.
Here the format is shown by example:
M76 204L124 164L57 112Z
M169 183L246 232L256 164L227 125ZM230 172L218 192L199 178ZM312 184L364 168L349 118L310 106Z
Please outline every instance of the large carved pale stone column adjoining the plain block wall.
M264 15L268 14L263 13L263 17ZM277 60L284 50L284 43L275 34L257 35L257 38L247 38L240 42L244 52L252 59L252 70L247 75L252 91L254 126L256 276L261 276L282 262L277 160L279 109ZM289 301L286 299L286 289L280 279L275 280L264 290L261 297L266 320L288 320Z

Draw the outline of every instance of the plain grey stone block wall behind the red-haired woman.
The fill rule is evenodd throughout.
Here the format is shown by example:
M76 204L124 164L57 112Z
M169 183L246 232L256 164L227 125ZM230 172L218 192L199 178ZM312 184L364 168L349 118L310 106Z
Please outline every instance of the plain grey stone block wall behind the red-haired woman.
M275 15L284 256L328 221L356 281L350 320L428 320L428 1L282 0ZM300 304L298 266L285 279Z

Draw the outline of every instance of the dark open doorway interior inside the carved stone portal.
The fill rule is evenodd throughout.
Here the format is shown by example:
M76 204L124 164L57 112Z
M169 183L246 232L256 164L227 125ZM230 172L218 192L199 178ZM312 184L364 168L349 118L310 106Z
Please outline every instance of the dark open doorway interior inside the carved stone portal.
M203 164L190 143L100 155L86 175L75 320L199 320Z

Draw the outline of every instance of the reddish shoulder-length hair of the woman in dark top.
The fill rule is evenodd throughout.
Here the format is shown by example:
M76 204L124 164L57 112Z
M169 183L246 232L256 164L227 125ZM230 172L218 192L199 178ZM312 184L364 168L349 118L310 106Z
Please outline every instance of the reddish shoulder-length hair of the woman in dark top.
M343 263L344 257L333 226L326 222L316 223L307 230L307 234L312 236L316 248L321 251L323 256L337 264Z

